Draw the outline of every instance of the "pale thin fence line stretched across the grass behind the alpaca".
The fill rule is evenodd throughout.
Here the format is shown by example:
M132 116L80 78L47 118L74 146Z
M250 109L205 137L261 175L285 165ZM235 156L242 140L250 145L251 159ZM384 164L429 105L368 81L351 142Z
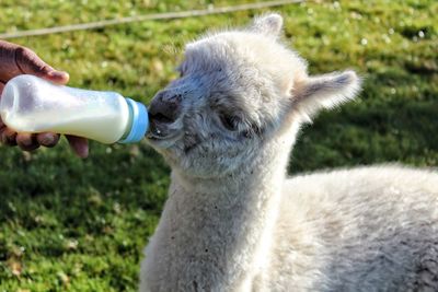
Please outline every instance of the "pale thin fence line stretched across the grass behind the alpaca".
M211 14L223 14L230 12L238 12L244 10L257 10L264 8L274 8L287 4L296 4L304 2L306 0L278 0L278 1L266 1L266 2L255 2L255 3L246 3L240 5L230 5L230 7L209 7L203 10L189 10L189 11L180 11L180 12L165 12L165 13L152 13L152 14L143 14L143 15L135 15L122 19L113 19L113 20L103 20L96 22L89 23L79 23L79 24L70 24L62 26L54 26L46 28L37 28L37 30L28 30L28 31L18 31L11 33L1 33L0 39L8 38L19 38L25 36L39 36L39 35L48 35L48 34L59 34L74 31L85 31L85 30L96 30L106 26L117 25L117 24L126 24L132 22L143 22L143 21L155 21L155 20L174 20L174 19L186 19L194 16L204 16Z

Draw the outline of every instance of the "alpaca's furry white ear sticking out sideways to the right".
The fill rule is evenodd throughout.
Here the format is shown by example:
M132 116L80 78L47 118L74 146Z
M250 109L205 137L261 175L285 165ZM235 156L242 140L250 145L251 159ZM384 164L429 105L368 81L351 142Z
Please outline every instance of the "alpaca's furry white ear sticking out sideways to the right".
M360 90L354 71L306 77L292 89L293 107L309 119L322 108L333 108L353 100Z

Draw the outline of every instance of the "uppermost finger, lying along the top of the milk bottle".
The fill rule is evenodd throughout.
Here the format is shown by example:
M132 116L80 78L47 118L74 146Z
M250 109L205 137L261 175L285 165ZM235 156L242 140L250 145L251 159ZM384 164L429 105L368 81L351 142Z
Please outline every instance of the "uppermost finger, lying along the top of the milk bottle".
M66 84L68 82L69 74L67 72L55 70L31 49L18 47L15 54L16 66L23 73L41 77L59 84Z

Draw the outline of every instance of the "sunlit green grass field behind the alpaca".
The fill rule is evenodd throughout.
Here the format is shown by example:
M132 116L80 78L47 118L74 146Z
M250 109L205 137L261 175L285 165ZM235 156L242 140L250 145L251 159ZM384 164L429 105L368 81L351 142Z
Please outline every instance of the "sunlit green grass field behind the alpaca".
M2 0L0 32L245 1ZM285 42L311 73L343 68L365 78L360 100L307 127L290 173L400 162L438 166L438 2L312 1L276 9ZM113 90L148 103L174 78L184 44L262 11L117 25L13 39L70 72L72 86ZM145 143L66 142L23 153L0 149L0 292L135 291L169 167Z

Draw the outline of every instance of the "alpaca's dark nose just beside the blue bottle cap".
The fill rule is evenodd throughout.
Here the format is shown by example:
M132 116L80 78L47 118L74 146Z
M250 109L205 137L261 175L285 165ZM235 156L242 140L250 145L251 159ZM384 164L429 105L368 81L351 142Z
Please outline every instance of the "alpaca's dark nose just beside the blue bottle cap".
M175 121L180 116L181 101L181 94L160 91L149 105L150 118L165 124Z

